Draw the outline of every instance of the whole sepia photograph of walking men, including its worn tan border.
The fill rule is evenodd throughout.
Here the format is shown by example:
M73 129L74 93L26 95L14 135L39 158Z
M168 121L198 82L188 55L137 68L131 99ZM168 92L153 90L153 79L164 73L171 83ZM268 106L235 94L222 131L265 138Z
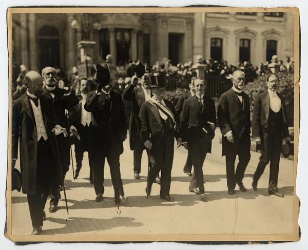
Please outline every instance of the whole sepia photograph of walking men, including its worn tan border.
M12 7L7 27L7 238L300 240L299 9Z

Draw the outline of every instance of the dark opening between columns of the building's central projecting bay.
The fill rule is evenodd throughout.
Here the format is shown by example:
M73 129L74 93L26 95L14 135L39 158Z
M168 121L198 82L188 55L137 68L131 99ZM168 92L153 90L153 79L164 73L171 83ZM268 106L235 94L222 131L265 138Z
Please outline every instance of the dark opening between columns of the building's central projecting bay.
M115 44L117 45L117 64L127 63L131 59L130 29L115 30Z

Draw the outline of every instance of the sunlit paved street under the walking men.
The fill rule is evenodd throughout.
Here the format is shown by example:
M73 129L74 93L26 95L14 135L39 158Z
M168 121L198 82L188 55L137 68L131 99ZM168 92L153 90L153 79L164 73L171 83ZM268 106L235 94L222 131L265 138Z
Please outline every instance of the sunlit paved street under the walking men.
M87 155L78 180L73 181L72 169L67 173L69 215L65 202L59 210L50 214L46 205L43 234L77 235L157 235L157 234L292 234L293 230L293 161L280 160L278 187L285 198L267 194L269 166L266 167L258 185L252 189L252 177L260 153L252 152L247 166L242 192L227 194L225 158L221 157L220 131L216 131L211 155L204 166L206 202L189 193L190 177L183 174L187 151L175 149L172 168L171 197L175 202L164 202L159 197L158 184L153 184L151 197L146 199L147 175L146 153L143 155L142 179L133 178L132 151L125 141L121 155L121 175L128 201L117 206L113 201L110 170L105 166L104 201L95 202L93 185L90 184ZM62 192L63 196L63 192ZM49 202L49 200L48 200ZM12 235L30 235L32 232L27 198L16 190L12 193Z

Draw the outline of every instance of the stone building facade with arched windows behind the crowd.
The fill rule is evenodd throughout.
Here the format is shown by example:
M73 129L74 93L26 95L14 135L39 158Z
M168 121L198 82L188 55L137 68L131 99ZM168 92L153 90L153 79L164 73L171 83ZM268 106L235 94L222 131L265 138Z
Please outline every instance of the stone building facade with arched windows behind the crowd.
M90 61L111 54L114 64L140 58L152 65L195 61L197 55L256 65L270 55L293 57L293 13L31 13L12 16L13 66L40 71L50 65L70 74L91 41Z

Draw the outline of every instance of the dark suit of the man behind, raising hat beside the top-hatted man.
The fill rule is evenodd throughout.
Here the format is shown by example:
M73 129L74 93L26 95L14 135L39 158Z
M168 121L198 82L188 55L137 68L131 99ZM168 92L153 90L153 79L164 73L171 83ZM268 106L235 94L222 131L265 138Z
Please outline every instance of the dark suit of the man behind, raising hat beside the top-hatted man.
M130 149L133 150L133 171L135 174L140 174L141 158L145 149L140 139L141 121L139 118L140 107L145 102L143 88L137 88L130 83L124 90L123 99L131 101L132 104L128 126L129 145Z

